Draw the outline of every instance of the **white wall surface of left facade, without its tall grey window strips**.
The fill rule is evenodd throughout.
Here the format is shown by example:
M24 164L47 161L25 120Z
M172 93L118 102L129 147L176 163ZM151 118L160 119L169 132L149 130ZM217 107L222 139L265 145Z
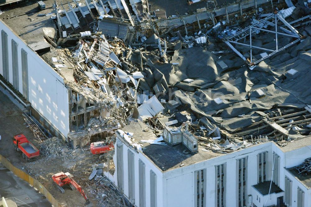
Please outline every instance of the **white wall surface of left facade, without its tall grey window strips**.
M22 69L21 69L21 49L24 49L28 57L28 83L29 102L36 111L58 129L63 136L67 137L69 132L69 101L68 90L64 80L53 68L31 50L23 40L21 40L11 29L0 21L0 31L4 30L8 35L9 54L9 82L12 84L12 39L18 44L18 72L19 72L19 92L23 94ZM0 41L1 44L1 41ZM2 60L2 50L0 50ZM3 75L2 64L0 73Z

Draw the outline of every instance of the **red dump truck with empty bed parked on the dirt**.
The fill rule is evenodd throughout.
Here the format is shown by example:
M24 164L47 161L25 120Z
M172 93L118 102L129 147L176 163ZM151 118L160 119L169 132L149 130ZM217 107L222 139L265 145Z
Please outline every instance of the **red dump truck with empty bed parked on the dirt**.
M28 141L24 134L17 134L13 137L13 147L17 152L22 152L26 161L35 160L39 156L39 149Z

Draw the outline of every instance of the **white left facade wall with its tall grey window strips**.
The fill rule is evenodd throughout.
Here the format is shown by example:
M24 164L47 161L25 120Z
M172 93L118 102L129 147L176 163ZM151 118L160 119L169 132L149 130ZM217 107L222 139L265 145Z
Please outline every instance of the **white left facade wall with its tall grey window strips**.
M64 79L3 21L0 32L1 84L8 90L11 84L16 97L20 92L19 101L53 135L67 138L70 93Z

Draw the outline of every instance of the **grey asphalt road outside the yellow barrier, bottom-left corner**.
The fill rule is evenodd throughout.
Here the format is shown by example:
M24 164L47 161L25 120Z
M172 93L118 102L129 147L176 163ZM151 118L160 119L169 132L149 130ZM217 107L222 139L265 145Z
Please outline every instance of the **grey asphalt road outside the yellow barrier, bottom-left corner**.
M51 207L50 202L26 181L23 181L0 163L0 196L27 207Z

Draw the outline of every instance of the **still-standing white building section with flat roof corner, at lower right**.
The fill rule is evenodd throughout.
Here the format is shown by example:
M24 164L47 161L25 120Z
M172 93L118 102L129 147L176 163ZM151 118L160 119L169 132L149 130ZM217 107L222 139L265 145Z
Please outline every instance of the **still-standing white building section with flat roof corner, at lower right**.
M136 143L156 139L143 132L145 126L132 123L123 131L133 132ZM141 148L116 134L115 172L104 174L134 206L311 206L311 176L289 169L311 157L310 137L284 147L266 142L228 154L199 149L193 155L182 144Z

